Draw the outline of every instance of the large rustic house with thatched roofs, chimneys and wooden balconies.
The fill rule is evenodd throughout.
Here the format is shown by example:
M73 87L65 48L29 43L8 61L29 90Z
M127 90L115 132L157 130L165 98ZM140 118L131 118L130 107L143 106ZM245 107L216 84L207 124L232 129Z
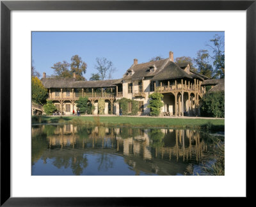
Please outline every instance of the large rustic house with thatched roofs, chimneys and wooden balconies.
M73 78L47 78L44 73L41 79L48 89L49 98L58 111L72 114L76 111L76 100L88 97L94 105L93 114L98 113L98 100L105 100L105 114L119 114L116 100L129 98L139 102L139 114L149 114L148 96L154 92L163 94L164 106L161 115L167 116L200 116L199 101L206 93L205 86L217 90L224 89L224 82L208 80L209 78L191 71L189 64L177 65L173 62L173 52L169 57L159 61L138 64L134 59L132 66L122 79L106 81L76 81ZM131 105L129 105L131 110Z

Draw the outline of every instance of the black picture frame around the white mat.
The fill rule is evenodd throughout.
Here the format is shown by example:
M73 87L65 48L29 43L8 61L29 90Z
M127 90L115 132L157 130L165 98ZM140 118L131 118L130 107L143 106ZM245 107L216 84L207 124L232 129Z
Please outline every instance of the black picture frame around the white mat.
M1 1L1 206L146 206L152 199L125 197L10 197L10 12L12 10L246 10L246 197L255 150L256 0L253 1Z

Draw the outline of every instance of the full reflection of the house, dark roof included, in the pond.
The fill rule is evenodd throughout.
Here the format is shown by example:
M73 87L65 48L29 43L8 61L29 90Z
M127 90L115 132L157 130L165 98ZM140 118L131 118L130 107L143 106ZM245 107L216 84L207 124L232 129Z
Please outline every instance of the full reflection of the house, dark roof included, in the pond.
M42 131L47 134L45 141L50 151L44 152L45 162L47 157L53 158L54 153L58 155L54 149L72 148L78 154L72 157L69 151L71 154L67 155L67 159L72 158L74 164L78 155L82 159L83 154L97 153L104 159L109 154L116 154L124 157L136 174L184 174L185 171L193 172L189 164L198 163L209 150L202 134L195 130L74 125L51 127L45 125L32 130L32 135ZM208 145L211 148L211 144Z

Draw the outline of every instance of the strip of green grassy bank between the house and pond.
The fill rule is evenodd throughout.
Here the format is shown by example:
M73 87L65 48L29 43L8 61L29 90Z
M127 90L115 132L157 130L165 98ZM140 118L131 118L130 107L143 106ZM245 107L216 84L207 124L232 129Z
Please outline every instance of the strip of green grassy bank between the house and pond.
M183 119L183 118L145 118L129 116L33 116L32 123L74 123L104 126L137 126L196 128L209 131L224 131L224 119Z

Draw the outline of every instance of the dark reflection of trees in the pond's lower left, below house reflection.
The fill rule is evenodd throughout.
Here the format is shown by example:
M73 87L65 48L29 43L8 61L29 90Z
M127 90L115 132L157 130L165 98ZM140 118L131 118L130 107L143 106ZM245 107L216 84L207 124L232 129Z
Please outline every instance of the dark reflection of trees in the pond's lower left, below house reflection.
M44 153L42 160L46 160L47 158L52 159L52 164L55 167L58 167L58 169L61 167L64 167L65 169L70 167L72 172L76 175L82 174L83 169L88 165L88 160L84 157L83 151L77 149L49 150L47 153Z

